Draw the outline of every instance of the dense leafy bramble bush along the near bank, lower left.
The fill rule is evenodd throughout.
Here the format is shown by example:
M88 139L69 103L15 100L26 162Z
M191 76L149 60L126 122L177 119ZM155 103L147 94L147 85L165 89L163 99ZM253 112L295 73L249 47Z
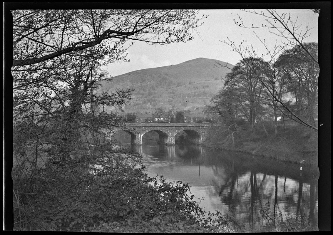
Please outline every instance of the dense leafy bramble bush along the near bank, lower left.
M150 178L144 166L113 163L92 170L82 159L49 160L31 177L15 174L14 168L14 230L211 231L211 218L187 183Z

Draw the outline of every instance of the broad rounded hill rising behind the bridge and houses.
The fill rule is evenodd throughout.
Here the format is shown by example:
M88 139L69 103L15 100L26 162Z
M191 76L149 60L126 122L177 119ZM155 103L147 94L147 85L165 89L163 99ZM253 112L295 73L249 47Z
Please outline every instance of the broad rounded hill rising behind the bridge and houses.
M227 63L197 58L177 65L137 70L101 83L102 89L133 88L131 104L126 112L152 112L157 107L174 110L203 108L222 87L221 81L230 72L217 63ZM233 65L228 65L233 67Z

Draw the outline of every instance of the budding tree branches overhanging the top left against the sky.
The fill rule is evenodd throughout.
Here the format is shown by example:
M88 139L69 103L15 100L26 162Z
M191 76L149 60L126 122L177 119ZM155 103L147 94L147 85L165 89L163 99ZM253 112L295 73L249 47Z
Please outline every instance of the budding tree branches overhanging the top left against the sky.
M191 40L196 10L13 10L14 66L47 63L88 48L119 60L127 40L169 44ZM24 50L22 50L24 49ZM87 54L88 55L88 54Z

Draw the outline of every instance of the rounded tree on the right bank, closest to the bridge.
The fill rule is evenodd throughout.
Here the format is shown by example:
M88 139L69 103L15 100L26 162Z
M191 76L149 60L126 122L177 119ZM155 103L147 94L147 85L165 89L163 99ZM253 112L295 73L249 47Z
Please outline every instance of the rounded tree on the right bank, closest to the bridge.
M246 118L254 129L263 115L264 86L269 65L259 58L244 58L227 74L224 87L211 98L211 109L223 118L224 132L234 142L234 135L240 137L237 121Z

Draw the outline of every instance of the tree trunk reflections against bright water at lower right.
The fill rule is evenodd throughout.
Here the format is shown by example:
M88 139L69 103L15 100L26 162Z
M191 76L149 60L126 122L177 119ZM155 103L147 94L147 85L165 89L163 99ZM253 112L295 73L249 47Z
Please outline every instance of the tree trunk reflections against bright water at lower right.
M212 166L214 172L212 183L215 193L221 197L221 202L227 205L236 219L247 221L252 227L257 222L260 210L267 209L266 202L270 202L270 209L272 209L270 213L274 221L280 212L299 216L308 214L309 223L317 225L315 213L317 198L315 183L317 181L315 179L311 180L310 188L304 188L303 185L308 184L303 183L302 178L298 182L291 179L287 182L286 177L281 178L278 174L267 175L253 169L246 171L245 168L244 164L238 168L231 163L223 164L223 167ZM295 184L295 187L292 190L290 190L291 187L287 187L286 193L286 186L290 183ZM310 191L309 196L304 194L306 190ZM303 208L306 208L306 211Z

